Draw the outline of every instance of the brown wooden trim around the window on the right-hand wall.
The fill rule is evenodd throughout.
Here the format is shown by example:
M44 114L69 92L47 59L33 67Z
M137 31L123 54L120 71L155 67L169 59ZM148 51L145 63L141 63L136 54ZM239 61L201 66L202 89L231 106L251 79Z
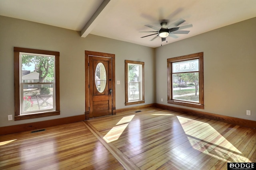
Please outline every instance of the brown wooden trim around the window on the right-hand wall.
M174 57L167 59L167 103L176 104L180 106L194 107L198 109L204 109L204 53L194 53L190 55L184 55L180 57ZM193 59L199 59L199 103L185 102L172 99L172 63L180 61L189 61Z

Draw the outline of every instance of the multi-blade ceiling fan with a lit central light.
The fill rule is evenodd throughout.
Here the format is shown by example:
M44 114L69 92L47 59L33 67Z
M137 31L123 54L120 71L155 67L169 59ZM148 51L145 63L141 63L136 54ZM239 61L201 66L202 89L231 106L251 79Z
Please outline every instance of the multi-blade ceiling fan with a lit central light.
M180 24L182 24L184 22L185 22L185 20L180 19L180 20L167 26L167 20L162 20L160 23L160 25L162 26L161 28L157 28L157 27L154 27L153 25L149 25L149 24L145 25L146 27L150 27L156 31L141 31L141 32L147 32L147 33L154 32L153 34L144 36L144 37L148 37L151 35L156 35L150 41L153 41L158 36L162 38L162 41L166 41L166 37L168 37L168 36L173 37L173 38L178 38L178 36L175 34L188 34L190 32L190 31L184 31L181 29L192 27L193 26L192 24L178 27ZM140 38L144 38L144 37L140 37Z

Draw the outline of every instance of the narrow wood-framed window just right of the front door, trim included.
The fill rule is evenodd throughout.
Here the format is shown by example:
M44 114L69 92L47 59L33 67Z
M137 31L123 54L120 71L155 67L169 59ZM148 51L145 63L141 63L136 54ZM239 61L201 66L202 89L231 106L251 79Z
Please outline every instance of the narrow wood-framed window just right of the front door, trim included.
M125 105L145 103L144 62L125 60Z

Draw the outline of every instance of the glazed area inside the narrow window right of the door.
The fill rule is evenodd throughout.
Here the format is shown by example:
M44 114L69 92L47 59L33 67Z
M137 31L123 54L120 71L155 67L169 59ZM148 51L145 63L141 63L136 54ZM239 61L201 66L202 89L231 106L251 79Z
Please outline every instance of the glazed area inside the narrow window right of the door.
M128 63L128 102L142 100L142 64Z

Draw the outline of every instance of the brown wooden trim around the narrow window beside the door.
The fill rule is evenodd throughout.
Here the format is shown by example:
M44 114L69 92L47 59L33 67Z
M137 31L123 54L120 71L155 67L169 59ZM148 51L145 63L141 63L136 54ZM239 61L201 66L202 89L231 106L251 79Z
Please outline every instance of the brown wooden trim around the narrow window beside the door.
M128 102L128 64L141 64L142 65L142 100L136 100L134 102ZM144 62L125 60L125 105L142 104L145 103L144 97Z

